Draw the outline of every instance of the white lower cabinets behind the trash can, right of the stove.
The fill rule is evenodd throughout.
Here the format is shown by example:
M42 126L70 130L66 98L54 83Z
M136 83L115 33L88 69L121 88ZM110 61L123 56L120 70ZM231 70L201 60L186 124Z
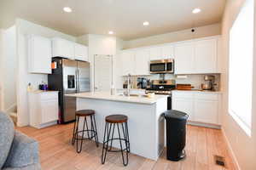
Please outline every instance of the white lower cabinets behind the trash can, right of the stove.
M172 91L172 109L189 115L190 122L219 125L221 94Z

